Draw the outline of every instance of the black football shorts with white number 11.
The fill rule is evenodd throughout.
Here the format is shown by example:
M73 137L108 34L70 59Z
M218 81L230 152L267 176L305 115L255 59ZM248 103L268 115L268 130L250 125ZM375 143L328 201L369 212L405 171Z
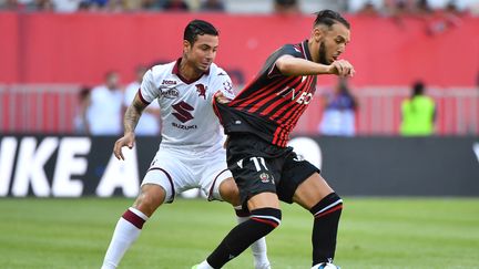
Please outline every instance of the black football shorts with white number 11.
M320 173L298 158L292 147L278 147L247 133L230 135L226 156L242 204L261 193L275 193L281 200L292 204L299 184Z

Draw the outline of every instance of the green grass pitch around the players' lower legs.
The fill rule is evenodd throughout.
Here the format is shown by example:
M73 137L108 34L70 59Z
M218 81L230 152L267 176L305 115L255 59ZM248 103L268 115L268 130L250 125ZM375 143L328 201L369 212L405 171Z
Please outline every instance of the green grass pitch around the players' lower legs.
M346 197L336 263L479 268L479 199ZM0 199L0 268L100 268L124 198ZM283 204L273 268L310 268L312 216ZM226 203L177 199L156 211L120 268L191 268L235 225ZM249 250L225 268L252 268Z

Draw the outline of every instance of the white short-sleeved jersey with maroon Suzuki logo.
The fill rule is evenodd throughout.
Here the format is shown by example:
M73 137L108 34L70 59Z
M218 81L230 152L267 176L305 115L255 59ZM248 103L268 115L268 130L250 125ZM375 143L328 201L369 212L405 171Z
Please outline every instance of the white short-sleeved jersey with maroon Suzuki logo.
M196 81L179 73L180 60L155 65L143 76L140 97L145 103L157 100L162 117L161 147L210 152L222 146L223 132L213 112L212 100L217 91L234 97L227 73L212 63Z

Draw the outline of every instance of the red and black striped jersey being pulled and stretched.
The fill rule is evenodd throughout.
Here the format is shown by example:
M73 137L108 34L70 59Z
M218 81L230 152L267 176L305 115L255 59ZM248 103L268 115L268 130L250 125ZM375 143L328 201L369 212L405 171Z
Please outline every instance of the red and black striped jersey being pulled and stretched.
M214 102L225 133L253 133L285 147L289 133L316 90L316 75L286 76L276 68L282 55L312 61L308 41L286 44L266 60L256 77L230 103Z

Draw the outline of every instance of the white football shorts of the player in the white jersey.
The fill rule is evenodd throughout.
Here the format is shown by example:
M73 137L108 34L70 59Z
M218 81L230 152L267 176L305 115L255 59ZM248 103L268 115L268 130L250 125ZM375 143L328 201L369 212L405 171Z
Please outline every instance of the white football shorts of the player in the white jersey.
M177 194L192 188L200 188L208 200L223 200L220 184L228 177L232 174L227 169L224 148L207 154L161 148L153 158L142 186L160 185L166 193L165 203L172 203Z

